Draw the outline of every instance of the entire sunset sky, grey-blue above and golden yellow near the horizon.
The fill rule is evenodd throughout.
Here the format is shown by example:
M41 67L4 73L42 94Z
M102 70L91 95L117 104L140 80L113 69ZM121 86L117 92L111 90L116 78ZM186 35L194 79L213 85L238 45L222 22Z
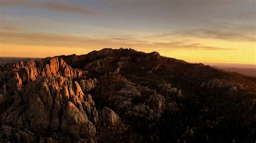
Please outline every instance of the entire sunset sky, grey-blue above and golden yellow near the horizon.
M255 65L255 16L255 0L0 0L0 56L123 47Z

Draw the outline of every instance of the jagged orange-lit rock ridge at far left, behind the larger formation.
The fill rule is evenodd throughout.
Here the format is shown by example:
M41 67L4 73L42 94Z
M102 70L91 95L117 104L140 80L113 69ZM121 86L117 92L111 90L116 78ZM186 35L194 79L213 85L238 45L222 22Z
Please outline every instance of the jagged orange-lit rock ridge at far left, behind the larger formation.
M71 80L82 76L82 71L71 68L59 58L8 63L0 71L0 81L8 87L10 93L20 91L23 85L40 76L63 76Z

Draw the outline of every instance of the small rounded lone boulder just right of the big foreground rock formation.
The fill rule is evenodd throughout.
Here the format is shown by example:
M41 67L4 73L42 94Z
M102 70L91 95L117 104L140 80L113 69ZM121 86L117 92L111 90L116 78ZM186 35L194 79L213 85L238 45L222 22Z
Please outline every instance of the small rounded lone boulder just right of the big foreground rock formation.
M114 126L114 125L118 125L121 123L119 116L116 113L114 113L113 110L111 110L107 107L104 107L102 109L100 118L104 125Z

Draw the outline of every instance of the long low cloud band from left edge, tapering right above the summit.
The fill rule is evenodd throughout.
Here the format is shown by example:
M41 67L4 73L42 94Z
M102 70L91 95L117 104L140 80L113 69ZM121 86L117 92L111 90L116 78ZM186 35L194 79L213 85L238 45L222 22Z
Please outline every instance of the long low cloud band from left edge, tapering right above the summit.
M137 40L135 37L111 37L90 38L75 35L62 35L51 33L28 33L28 32L5 32L0 33L0 41L3 44L48 46L48 47L80 47L80 48L102 48L102 47L131 47L145 49L167 49L167 50L234 50L232 48L220 48L204 46L201 44L186 44L186 42L149 42Z

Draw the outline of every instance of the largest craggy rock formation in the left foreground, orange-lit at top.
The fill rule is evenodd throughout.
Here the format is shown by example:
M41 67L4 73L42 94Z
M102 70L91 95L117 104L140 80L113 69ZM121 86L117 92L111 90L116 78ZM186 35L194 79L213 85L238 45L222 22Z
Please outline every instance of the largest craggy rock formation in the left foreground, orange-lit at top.
M26 85L22 97L4 113L3 124L9 126L8 130L23 131L25 127L34 132L50 128L76 138L93 137L96 128L84 108L88 105L89 109L95 108L77 82L61 76L39 77Z

